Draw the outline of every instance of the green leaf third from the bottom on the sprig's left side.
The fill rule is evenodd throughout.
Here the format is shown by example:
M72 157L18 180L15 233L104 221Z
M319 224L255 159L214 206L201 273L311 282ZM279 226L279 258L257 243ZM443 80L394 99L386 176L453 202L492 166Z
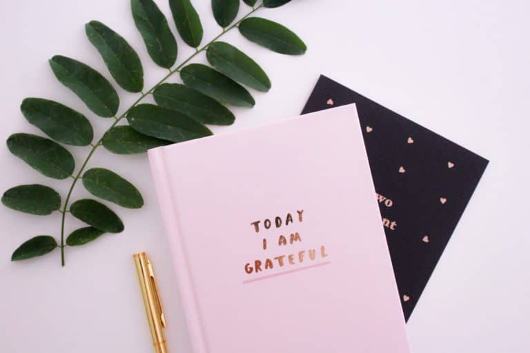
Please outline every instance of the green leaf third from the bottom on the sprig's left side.
M32 134L12 134L8 149L46 177L66 179L74 172L72 154L52 140Z

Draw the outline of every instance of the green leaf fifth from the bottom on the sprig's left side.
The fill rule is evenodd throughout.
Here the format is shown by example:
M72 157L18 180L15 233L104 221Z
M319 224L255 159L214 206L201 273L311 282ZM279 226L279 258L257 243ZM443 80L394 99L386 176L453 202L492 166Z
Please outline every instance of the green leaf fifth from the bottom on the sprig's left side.
M70 88L99 117L114 117L119 97L112 85L99 72L80 61L56 55L50 59L55 77Z

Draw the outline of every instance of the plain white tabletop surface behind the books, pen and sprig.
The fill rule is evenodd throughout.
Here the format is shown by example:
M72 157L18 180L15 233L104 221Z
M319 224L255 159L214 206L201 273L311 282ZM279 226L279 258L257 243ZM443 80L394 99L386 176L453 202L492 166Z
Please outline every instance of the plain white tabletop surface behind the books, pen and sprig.
M219 28L210 1L193 2L206 43ZM167 2L157 3L176 32ZM247 10L243 5L240 15ZM297 32L308 45L304 57L264 50L236 31L226 35L262 65L273 88L255 94L254 109L237 110L235 125L215 132L299 114L323 73L490 159L407 325L414 352L529 351L529 11L524 0L295 0L258 15ZM148 58L127 0L8 1L0 17L1 141L14 132L41 134L19 111L24 97L55 99L84 112L97 137L112 123L90 114L55 80L47 63L63 54L110 78L84 34L84 23L92 19L137 49L146 87L166 74ZM179 61L190 52L179 40ZM135 95L119 93L123 112ZM71 150L79 165L88 149ZM0 165L2 190L45 183L65 195L70 185L70 180L42 177L7 148L0 148ZM90 166L122 174L141 190L146 205L141 210L111 206L126 230L68 248L65 268L58 250L10 262L26 239L57 237L59 213L37 217L0 208L0 352L150 352L131 256L142 250L153 258L159 276L170 351L190 352L146 156L119 157L100 148ZM78 185L75 199L86 195ZM68 232L80 225L68 217Z

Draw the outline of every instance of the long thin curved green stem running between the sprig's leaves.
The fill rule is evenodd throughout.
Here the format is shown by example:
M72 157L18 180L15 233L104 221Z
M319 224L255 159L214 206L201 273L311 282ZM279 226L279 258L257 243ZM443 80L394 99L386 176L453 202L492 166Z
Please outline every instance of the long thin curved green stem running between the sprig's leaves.
M159 85L161 85L162 83L166 82L167 79L169 79L173 74L175 74L175 72L179 72L180 69L186 65L186 63L188 63L190 60L192 60L193 58L195 58L200 52L203 52L204 50L208 49L208 46L210 46L210 44L212 44L213 42L217 41L217 39L219 39L220 37L222 37L224 34L226 34L228 31L232 30L233 28L236 28L237 26L239 26L239 23L241 23L244 19L246 19L247 17L249 17L251 14L253 14L254 12L256 12L257 10L259 10L259 8L262 8L262 4L260 4L259 6L257 6L256 8L253 8L253 10L251 12L248 12L248 14L246 14L244 17L242 17L241 19L239 19L239 21L235 22L233 25L231 25L230 27L227 27L227 28L223 28L222 32L219 33L214 39L212 39L211 41L209 41L208 43L206 43L204 46L202 46L202 48L198 49L196 48L195 52L193 54L190 55L190 57L188 57L188 59L182 61L182 63L180 63L175 69L173 70L169 70L169 73L166 74L166 76L164 78L162 78L160 81L158 81L158 83L156 85L154 85L152 88L150 88L150 90L148 90L147 92L141 92L141 96L135 101L135 103L133 103L132 105L130 105L129 108L127 108L127 110L121 114L119 117L115 116L115 122L112 123L112 125L110 125L110 128L108 128L106 130L106 132L104 132L104 134L101 136L101 138L99 138L99 140L97 141L97 143L92 143L90 144L92 146L92 148L90 149L90 152L88 152L88 155L86 156L83 164L81 165L81 168L79 168L79 171L77 172L76 176L74 177L72 175L72 178L74 179L72 181L72 185L70 185L70 190L68 190L68 194L66 195L66 200L64 201L64 205L63 205L63 209L61 211L61 245L59 245L59 248L61 248L61 265L64 266L65 265L65 260L64 260L64 248L66 248L66 245L64 243L64 223L65 223L65 218L66 218L66 213L68 212L67 208L68 208L68 204L70 203L70 197L72 196L72 192L75 188L75 185L77 184L77 181L79 179L81 179L81 173L84 172L85 168L86 168L86 165L88 164L88 161L90 161L90 158L92 158L92 155L94 154L94 152L96 152L97 148L101 145L103 145L103 138L105 136L105 134L112 128L114 128L120 121L121 119L124 119L125 117L127 117L127 114L128 112L130 112L131 109L133 109L138 103L140 103L141 101L144 100L144 98L146 98L149 94L151 94L154 90L156 90L158 88Z

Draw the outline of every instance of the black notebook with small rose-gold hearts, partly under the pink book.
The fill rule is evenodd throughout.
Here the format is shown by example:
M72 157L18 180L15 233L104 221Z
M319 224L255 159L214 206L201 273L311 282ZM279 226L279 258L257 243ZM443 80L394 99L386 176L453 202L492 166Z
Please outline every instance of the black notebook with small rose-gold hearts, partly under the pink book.
M302 114L350 103L408 320L488 161L324 76Z

